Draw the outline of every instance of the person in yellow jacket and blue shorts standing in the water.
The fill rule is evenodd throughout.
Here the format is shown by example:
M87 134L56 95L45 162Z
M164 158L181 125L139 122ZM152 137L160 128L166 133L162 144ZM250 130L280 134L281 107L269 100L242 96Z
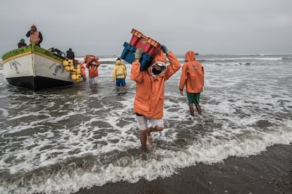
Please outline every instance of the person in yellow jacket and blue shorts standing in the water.
M120 58L116 59L116 65L113 70L113 82L116 81L116 89L127 89L126 86L126 77L127 77L127 67L121 62Z

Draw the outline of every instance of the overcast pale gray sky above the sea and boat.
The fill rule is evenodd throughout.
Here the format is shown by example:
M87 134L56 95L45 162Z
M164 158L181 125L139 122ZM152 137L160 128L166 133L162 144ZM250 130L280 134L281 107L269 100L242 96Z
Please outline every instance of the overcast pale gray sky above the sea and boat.
M3 0L0 56L31 24L43 48L121 55L134 28L176 54L292 53L291 0Z

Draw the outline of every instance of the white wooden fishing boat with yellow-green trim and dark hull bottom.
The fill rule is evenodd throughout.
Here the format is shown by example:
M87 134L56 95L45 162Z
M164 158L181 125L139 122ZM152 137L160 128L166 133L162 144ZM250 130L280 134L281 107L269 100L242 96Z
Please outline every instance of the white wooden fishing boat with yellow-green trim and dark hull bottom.
M2 60L5 78L12 86L37 91L75 83L63 65L65 57L33 43L5 53Z

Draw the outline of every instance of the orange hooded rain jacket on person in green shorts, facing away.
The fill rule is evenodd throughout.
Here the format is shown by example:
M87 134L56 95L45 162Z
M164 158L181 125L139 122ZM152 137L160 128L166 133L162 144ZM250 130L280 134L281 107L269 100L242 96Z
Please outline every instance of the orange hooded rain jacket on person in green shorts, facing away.
M181 81L179 89L188 93L200 93L204 86L204 67L195 60L194 51L185 53L185 64L183 64L181 72Z

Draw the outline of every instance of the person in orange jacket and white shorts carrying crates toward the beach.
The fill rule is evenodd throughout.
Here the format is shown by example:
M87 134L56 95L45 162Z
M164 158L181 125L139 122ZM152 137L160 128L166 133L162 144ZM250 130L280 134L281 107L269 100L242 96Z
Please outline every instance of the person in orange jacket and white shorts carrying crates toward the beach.
M164 83L179 70L181 63L166 46L152 60L152 65L145 71L140 71L140 58L143 50L137 48L135 61L132 63L130 79L136 82L136 94L134 101L134 112L137 116L140 129L140 142L142 150L147 150L147 141L152 143L152 131L164 129ZM166 66L166 53L170 65ZM152 127L147 126L147 121Z

